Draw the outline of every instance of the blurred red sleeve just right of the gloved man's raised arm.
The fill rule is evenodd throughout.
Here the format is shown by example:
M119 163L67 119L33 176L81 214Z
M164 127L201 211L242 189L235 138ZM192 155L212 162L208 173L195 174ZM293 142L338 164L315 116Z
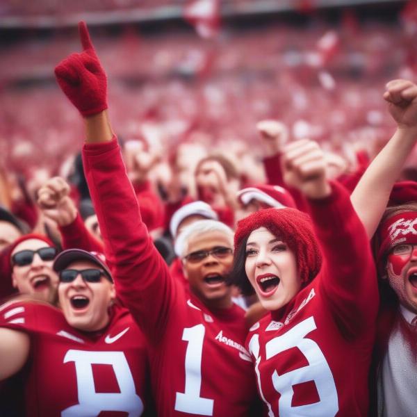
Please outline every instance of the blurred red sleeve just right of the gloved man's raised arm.
M135 187L136 198L140 205L140 214L142 221L149 230L157 229L163 226L164 207L161 199L152 191L151 183L145 181Z

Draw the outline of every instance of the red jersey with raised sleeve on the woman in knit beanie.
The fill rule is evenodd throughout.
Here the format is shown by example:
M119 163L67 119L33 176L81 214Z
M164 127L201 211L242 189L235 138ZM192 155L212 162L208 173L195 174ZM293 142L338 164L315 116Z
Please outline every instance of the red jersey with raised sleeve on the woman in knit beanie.
M366 416L378 307L370 245L342 186L309 208L322 268L250 329L259 393L268 416Z

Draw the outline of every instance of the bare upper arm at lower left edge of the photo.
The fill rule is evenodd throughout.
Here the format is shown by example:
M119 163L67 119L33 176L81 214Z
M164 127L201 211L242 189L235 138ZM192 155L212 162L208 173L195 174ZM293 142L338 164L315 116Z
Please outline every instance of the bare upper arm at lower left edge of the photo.
M28 334L0 328L0 381L22 369L28 360L30 348Z

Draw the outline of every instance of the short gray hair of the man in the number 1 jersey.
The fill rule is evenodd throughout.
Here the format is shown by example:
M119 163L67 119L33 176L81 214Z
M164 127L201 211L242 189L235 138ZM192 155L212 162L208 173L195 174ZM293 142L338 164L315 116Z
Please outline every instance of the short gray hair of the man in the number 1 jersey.
M220 231L220 233L228 238L230 247L233 247L234 231L231 230L229 226L218 220L197 220L197 222L184 227L183 231L181 231L178 238L175 240L174 250L177 256L180 256L181 258L186 256L190 238L209 231Z

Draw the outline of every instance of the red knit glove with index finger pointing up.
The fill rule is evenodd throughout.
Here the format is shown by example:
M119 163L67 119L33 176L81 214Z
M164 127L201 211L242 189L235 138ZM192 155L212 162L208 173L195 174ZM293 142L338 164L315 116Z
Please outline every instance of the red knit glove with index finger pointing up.
M92 46L85 22L79 22L83 52L71 54L55 68L61 90L83 116L106 110L107 77Z

